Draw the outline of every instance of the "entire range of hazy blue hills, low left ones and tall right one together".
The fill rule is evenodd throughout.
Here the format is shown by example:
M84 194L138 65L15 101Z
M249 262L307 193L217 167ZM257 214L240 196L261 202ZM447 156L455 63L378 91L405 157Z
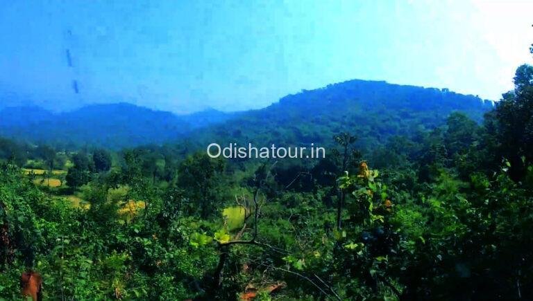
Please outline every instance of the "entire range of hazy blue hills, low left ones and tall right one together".
M442 124L452 111L474 120L492 102L446 89L350 80L321 89L287 95L264 109L224 113L208 109L185 116L133 104L93 104L74 111L51 113L39 107L8 107L0 111L0 136L46 141L62 147L95 145L120 149L173 143L194 137L239 143L329 143L349 131L364 137L363 148L389 136L409 135Z

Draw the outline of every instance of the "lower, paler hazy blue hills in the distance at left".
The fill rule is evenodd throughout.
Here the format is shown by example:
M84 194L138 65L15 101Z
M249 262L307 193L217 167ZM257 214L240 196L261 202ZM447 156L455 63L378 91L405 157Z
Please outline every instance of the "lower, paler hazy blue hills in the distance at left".
M94 104L63 113L40 107L8 107L0 111L0 136L31 143L45 141L67 149L85 145L121 149L177 140L232 116L235 113L213 109L177 116L127 103Z

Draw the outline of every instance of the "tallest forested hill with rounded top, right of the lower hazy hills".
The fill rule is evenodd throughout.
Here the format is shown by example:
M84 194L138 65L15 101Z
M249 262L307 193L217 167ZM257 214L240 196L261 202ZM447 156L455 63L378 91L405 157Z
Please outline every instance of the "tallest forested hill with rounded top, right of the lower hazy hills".
M347 131L359 138L360 149L371 149L391 136L412 136L443 125L453 111L481 122L491 109L493 102L489 100L448 89L350 80L287 95L267 108L196 131L190 140L201 145L328 145L332 136Z

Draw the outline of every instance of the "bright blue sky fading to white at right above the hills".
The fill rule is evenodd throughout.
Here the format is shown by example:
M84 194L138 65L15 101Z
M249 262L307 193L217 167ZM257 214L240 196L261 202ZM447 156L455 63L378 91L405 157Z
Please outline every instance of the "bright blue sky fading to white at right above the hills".
M533 63L532 15L505 0L6 1L0 106L240 111L351 79L498 100Z

